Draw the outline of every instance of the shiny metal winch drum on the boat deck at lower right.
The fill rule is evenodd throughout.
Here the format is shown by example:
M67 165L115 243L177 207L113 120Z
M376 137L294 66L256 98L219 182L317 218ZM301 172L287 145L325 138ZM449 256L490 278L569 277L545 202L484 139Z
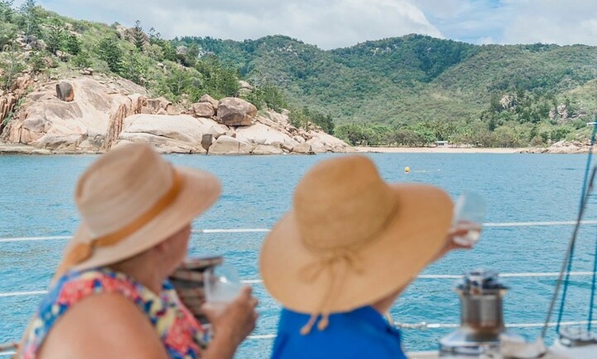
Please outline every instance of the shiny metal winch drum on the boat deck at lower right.
M493 271L476 269L456 284L460 297L460 327L440 340L440 355L479 356L500 347L500 336L520 338L504 326L502 297L508 287Z

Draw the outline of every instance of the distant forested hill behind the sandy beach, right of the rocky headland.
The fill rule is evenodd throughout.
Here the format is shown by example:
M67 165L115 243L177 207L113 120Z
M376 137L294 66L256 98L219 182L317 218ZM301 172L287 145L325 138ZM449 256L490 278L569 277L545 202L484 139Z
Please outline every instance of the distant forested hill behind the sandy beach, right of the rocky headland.
M597 47L585 45L408 35L323 51L286 36L180 41L329 112L353 143L541 145L585 134L597 109Z

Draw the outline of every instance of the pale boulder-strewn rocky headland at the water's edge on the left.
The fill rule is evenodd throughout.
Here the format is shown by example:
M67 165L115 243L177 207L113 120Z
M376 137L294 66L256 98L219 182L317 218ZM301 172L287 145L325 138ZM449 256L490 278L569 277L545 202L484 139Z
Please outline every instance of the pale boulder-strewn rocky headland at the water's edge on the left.
M149 143L161 153L211 155L351 152L319 127L294 127L288 112L257 111L237 97L204 95L180 108L124 79L78 76L39 84L0 134L0 153L103 153Z

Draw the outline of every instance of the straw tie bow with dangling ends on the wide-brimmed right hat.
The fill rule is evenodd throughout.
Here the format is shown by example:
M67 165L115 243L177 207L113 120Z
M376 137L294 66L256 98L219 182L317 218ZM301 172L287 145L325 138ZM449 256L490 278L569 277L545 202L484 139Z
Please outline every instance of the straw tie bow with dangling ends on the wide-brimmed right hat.
M360 246L358 246L360 247ZM336 267L340 267L340 273L337 273ZM338 294L342 292L342 286L346 280L349 271L361 274L363 269L360 266L360 258L356 248L340 248L331 249L323 258L316 260L312 264L303 267L301 277L305 282L312 282L317 279L323 272L329 273L331 283L325 291L322 301L314 312L311 312L309 321L301 327L301 334L307 335L311 332L313 325L321 314L321 320L317 327L319 330L325 330L329 325L329 306L333 304L338 298Z

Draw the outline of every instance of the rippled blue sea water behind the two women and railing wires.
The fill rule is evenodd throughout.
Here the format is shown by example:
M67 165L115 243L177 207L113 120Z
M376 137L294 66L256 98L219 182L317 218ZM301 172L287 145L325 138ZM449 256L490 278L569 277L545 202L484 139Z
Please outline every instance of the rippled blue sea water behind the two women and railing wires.
M167 156L175 164L204 169L223 183L220 201L194 223L196 229L270 228L291 206L292 192L313 164L339 154L318 156ZM452 197L469 190L484 195L487 222L572 221L576 219L586 156L548 154L371 153L385 180L421 182L445 188ZM0 156L0 238L68 236L78 225L73 204L75 180L96 156ZM404 167L411 172L405 173ZM585 219L597 219L589 201ZM479 267L500 273L557 272L572 226L487 227L478 245L455 251L423 274L460 275ZM264 233L194 234L189 256L222 253L243 279L257 280L257 258ZM574 271L592 271L596 227L582 227ZM65 240L0 241L0 343L20 338L40 295L5 293L45 290ZM395 303L391 314L401 323L458 323L454 279L421 278ZM555 277L504 278L506 323L541 323L546 317ZM572 277L564 321L587 319L590 276ZM279 305L261 284L259 322L253 334L274 334ZM436 349L452 328L405 329L408 351ZM514 328L529 339L540 328ZM549 330L548 341L554 336ZM267 358L271 338L248 339L236 358ZM347 343L348 345L348 343Z

